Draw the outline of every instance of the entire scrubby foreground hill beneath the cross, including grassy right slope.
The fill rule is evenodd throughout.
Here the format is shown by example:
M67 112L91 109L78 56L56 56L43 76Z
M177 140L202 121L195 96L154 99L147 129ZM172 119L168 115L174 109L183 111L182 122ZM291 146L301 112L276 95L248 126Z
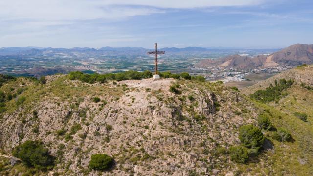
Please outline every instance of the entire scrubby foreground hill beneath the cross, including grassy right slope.
M15 98L3 99L0 113L0 175L313 175L313 96L304 85L293 84L278 104L265 104L220 82L182 74L157 81L78 76L3 83L0 91ZM295 111L307 113L307 122ZM272 128L262 130L254 148L241 131L253 126L261 132L260 116ZM292 137L276 139L280 128ZM42 142L52 167L12 164L16 147L29 140ZM96 171L93 154L107 154L114 164Z

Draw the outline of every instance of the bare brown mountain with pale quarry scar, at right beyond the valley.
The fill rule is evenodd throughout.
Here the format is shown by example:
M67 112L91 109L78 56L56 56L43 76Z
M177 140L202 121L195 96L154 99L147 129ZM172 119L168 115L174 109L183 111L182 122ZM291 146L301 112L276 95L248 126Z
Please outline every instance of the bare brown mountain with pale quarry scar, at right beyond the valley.
M313 64L313 44L294 44L271 55L255 57L231 55L220 59L205 59L198 67L219 66L236 69L255 69L275 66L298 66Z

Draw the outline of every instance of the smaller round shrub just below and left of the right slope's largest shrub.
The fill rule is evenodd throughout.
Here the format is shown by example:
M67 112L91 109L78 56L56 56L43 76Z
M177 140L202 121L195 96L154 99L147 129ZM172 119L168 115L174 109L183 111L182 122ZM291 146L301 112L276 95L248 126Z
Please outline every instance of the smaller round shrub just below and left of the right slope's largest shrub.
M230 159L237 163L244 164L249 159L248 150L242 146L231 146L229 153L230 153Z

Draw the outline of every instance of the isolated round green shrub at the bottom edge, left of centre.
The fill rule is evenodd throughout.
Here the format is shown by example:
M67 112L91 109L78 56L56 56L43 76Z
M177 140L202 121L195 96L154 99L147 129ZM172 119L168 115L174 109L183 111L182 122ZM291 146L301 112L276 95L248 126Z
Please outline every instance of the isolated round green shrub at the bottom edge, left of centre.
M89 167L97 171L106 171L114 165L114 160L107 154L93 154L89 162Z

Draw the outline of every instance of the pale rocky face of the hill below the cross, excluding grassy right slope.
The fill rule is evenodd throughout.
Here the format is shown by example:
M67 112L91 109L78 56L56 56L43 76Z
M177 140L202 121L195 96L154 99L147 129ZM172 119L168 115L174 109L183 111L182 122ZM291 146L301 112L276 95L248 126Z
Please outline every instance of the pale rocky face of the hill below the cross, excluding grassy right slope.
M181 94L170 92L172 85ZM59 75L27 88L26 101L17 106L11 100L1 114L0 148L10 154L26 140L43 141L58 160L50 175L97 175L88 164L99 153L115 160L103 175L231 174L234 166L217 149L238 144L237 128L257 116L249 101L217 83L145 79L90 85ZM80 128L70 133L73 126ZM65 135L58 134L62 129Z

